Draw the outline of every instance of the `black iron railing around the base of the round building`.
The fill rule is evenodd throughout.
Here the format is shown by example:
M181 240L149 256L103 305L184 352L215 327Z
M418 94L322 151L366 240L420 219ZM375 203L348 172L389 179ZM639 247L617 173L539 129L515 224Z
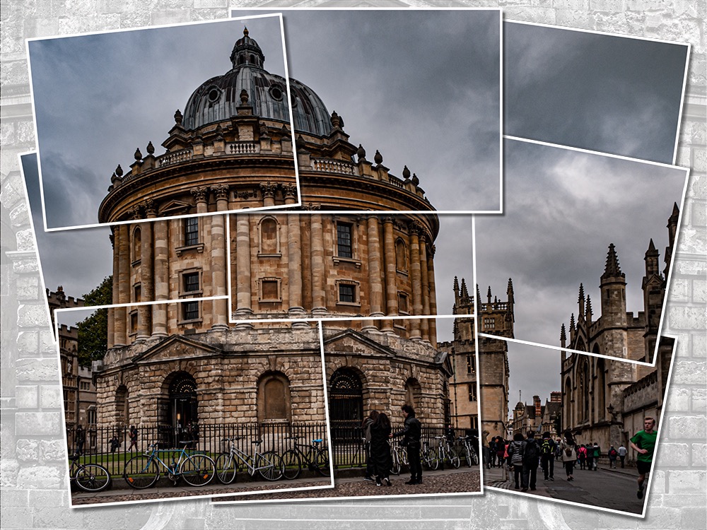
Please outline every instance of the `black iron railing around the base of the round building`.
M392 431L402 430L403 425L392 425ZM80 452L84 462L95 462L105 466L112 475L120 475L125 461L136 454L147 452L148 446L156 444L160 450L187 449L209 454L216 458L228 451L227 438L236 438L236 446L247 454L252 454L253 442L262 440L259 452L276 451L283 454L294 444L310 444L312 440L323 440L320 447L327 447L326 423L228 423L197 425L196 428L173 428L167 425L138 427L134 444L129 427L98 428L89 426L83 432L69 429L66 441L70 453ZM332 458L334 467L339 469L361 467L366 463L363 444L363 428L357 422L332 422ZM436 447L437 437L454 438L469 434L464 429L450 429L423 425L422 440ZM83 440L83 443L81 443Z

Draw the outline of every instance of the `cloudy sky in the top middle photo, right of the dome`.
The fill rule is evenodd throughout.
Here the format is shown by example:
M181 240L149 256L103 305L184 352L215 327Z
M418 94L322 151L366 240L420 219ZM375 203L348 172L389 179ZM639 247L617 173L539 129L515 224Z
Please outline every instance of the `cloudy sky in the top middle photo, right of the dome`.
M233 15L264 12L278 11ZM344 119L349 141L361 143L368 160L378 149L397 177L407 165L438 210L498 210L498 10L283 16L290 76Z

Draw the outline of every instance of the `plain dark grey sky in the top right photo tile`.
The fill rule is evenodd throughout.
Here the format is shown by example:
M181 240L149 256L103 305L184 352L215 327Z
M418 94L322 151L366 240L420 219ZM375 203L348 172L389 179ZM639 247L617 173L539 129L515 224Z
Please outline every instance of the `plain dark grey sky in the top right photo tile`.
M504 23L504 134L673 163L687 45Z

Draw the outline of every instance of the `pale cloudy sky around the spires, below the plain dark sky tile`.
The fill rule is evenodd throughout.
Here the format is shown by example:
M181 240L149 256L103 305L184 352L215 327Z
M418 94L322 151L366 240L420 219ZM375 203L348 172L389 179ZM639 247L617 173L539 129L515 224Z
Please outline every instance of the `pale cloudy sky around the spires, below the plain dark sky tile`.
M503 216L477 216L481 294L515 290L515 338L559 346L578 313L580 282L601 314L600 277L614 243L626 273L626 308L643 310L643 257L653 238L660 270L667 219L682 203L686 170L506 141Z

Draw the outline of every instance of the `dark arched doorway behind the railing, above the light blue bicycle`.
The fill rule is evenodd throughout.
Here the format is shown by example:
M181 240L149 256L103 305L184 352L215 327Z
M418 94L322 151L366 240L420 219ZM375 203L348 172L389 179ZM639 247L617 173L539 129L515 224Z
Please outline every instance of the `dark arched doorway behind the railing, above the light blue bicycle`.
M159 423L163 442L179 447L180 442L192 440L192 426L197 425L197 382L188 372L176 372L169 381L168 397L160 399Z

